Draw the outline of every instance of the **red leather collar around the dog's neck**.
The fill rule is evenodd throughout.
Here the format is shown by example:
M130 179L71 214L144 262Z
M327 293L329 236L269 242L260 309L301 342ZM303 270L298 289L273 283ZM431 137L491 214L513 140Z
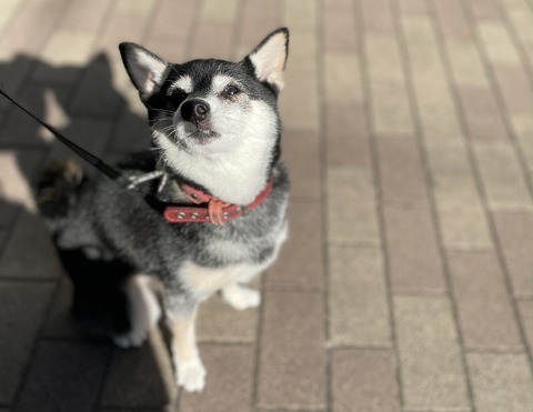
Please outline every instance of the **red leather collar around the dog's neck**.
M201 190L182 184L187 197L195 204L205 204L203 207L167 207L164 209L164 219L170 223L207 223L224 224L231 220L242 217L248 211L259 207L269 197L272 191L274 179L271 179L255 200L249 205L240 205L222 202Z

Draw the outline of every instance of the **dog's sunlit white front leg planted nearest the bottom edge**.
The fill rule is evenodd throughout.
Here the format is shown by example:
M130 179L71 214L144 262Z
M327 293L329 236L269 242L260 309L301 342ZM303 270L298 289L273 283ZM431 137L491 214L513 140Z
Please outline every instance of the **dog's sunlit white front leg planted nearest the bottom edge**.
M205 368L197 345L195 318L197 308L173 310L169 316L172 331L172 359L174 362L177 381L189 392L201 391L205 384Z

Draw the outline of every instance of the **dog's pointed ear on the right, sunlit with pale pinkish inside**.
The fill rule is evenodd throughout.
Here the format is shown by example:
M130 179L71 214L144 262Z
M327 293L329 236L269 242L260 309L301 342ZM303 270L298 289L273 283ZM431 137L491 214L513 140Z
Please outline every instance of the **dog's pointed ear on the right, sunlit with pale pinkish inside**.
M259 81L265 81L278 91L283 89L283 69L289 53L289 30L281 28L270 33L244 60L248 60Z

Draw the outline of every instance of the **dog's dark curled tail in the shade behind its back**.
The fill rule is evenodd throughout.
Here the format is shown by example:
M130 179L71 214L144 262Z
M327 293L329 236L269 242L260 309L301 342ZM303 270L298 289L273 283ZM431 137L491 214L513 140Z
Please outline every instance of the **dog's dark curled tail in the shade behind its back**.
M83 169L74 160L53 161L42 173L37 204L52 229L67 217L82 181Z

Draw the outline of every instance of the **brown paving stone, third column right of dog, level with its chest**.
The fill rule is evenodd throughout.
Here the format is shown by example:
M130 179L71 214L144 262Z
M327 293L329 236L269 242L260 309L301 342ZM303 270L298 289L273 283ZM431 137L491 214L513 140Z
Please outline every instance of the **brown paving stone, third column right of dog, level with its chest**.
M383 217L393 293L445 293L435 223L428 207L385 203Z

